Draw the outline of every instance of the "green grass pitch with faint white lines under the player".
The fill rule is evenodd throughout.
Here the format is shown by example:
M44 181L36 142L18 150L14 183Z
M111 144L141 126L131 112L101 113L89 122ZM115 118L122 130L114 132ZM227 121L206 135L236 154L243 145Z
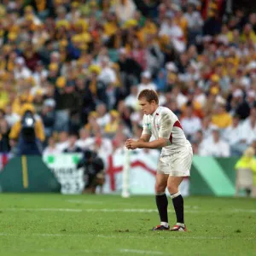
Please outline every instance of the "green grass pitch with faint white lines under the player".
M159 224L154 196L0 194L0 255L256 255L256 201L185 199L189 232ZM170 223L175 224L172 201Z

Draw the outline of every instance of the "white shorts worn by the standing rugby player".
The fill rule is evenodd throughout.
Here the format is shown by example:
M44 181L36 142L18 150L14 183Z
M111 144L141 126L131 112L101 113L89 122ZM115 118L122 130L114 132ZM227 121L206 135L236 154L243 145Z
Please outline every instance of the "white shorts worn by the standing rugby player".
M190 176L193 150L189 145L177 153L160 156L157 165L157 173L169 174L170 176L186 177Z

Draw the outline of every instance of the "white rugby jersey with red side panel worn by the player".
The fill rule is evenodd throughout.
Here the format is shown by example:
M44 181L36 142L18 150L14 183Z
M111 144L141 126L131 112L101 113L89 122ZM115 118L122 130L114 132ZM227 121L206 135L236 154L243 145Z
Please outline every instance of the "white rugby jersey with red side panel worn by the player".
M143 134L153 135L155 139L159 137L168 139L166 147L162 148L161 155L173 154L189 143L176 114L166 107L158 107L154 113L144 114Z

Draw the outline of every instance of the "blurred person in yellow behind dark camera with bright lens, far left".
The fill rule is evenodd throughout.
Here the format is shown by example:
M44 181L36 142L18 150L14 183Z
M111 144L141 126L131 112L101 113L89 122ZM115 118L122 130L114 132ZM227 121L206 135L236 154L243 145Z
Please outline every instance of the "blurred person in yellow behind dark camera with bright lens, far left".
M35 114L31 104L24 104L20 111L21 118L12 127L9 138L16 144L17 155L42 154L44 125Z

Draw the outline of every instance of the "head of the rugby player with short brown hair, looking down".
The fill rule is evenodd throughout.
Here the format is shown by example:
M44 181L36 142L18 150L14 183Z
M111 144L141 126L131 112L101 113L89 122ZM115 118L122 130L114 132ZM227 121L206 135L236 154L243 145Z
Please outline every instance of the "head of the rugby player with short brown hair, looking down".
M155 90L142 90L137 99L145 114L152 114L158 108L159 98Z

